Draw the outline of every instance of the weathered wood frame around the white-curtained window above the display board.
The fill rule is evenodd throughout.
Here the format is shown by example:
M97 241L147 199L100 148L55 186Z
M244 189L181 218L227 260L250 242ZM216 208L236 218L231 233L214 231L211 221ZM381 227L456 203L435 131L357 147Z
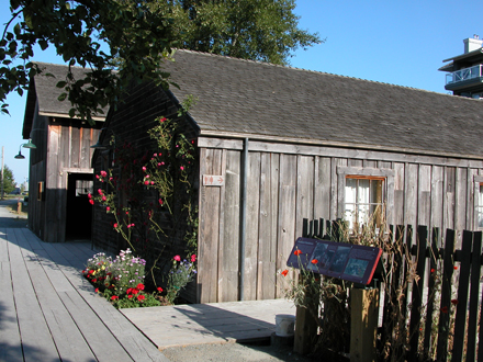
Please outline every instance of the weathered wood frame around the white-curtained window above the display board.
M389 225L393 224L393 211L394 211L394 177L395 171L392 169L383 168L369 168L369 167L337 167L337 214L344 218L345 205L346 205L346 179L384 179L384 192L385 200L385 220Z

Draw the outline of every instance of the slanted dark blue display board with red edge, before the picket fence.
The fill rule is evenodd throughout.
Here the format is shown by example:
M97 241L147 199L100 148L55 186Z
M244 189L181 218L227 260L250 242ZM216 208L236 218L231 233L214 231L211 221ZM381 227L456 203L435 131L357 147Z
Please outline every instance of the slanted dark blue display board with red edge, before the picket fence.
M380 248L299 238L287 264L368 285L374 275L381 253Z

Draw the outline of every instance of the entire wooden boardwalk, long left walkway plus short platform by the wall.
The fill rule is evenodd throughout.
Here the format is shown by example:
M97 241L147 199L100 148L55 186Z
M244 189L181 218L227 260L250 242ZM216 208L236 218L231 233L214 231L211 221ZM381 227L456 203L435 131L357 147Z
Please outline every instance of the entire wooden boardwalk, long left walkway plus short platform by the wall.
M0 362L165 362L158 348L267 338L276 314L295 313L278 299L124 309L127 319L81 276L93 253L0 225Z

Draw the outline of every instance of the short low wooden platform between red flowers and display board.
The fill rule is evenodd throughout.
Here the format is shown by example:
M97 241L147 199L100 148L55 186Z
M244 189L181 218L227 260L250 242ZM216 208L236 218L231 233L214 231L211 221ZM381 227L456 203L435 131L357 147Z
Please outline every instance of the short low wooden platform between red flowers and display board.
M160 350L168 347L268 339L276 315L295 315L285 299L122 309Z

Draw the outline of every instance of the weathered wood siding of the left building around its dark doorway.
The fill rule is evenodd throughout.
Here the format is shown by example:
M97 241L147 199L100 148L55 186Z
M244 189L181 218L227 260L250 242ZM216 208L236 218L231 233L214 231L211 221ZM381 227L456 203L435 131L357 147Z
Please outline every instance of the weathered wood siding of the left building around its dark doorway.
M65 241L68 174L92 173L90 146L100 127L88 127L79 120L34 117L32 142L37 148L31 150L29 226L44 241Z

